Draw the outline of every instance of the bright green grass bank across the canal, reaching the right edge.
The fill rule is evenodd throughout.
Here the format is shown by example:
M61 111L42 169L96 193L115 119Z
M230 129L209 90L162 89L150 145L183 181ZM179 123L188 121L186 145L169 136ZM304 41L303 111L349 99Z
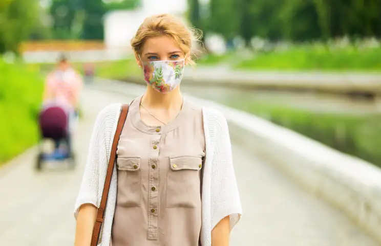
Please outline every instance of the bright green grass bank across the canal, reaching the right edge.
M325 47L299 47L283 52L259 53L253 59L239 62L235 69L381 71L381 48L328 50Z

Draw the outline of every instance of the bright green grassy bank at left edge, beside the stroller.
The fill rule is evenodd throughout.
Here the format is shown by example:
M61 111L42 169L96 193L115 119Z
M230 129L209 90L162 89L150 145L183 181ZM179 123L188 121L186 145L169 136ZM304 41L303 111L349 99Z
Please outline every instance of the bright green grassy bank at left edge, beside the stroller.
M0 164L33 146L43 79L33 66L7 64L0 57Z

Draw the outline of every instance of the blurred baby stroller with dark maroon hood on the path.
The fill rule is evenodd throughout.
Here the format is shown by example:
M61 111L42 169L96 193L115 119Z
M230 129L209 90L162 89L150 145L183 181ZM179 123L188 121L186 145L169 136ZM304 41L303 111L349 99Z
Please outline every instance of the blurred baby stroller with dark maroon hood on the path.
M40 130L40 141L38 143L38 155L36 169L39 171L44 161L59 160L69 161L70 168L75 167L75 156L71 149L71 135L69 131L69 112L57 104L46 106L39 114L38 124ZM51 139L55 143L52 153L45 153L42 142ZM61 144L65 148L61 148Z

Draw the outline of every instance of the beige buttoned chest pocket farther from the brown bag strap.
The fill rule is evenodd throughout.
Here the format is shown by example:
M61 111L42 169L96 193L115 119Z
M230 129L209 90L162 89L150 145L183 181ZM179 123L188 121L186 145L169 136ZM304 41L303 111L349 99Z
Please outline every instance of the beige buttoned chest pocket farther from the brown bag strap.
M202 158L197 156L170 158L170 165L166 181L166 207L200 207Z

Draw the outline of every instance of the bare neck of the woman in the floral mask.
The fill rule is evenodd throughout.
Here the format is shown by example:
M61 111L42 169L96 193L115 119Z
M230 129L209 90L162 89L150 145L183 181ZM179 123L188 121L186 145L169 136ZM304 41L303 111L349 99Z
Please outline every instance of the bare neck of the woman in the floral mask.
M178 109L182 105L182 100L180 86L165 94L154 90L151 86L147 86L141 103L150 108Z

